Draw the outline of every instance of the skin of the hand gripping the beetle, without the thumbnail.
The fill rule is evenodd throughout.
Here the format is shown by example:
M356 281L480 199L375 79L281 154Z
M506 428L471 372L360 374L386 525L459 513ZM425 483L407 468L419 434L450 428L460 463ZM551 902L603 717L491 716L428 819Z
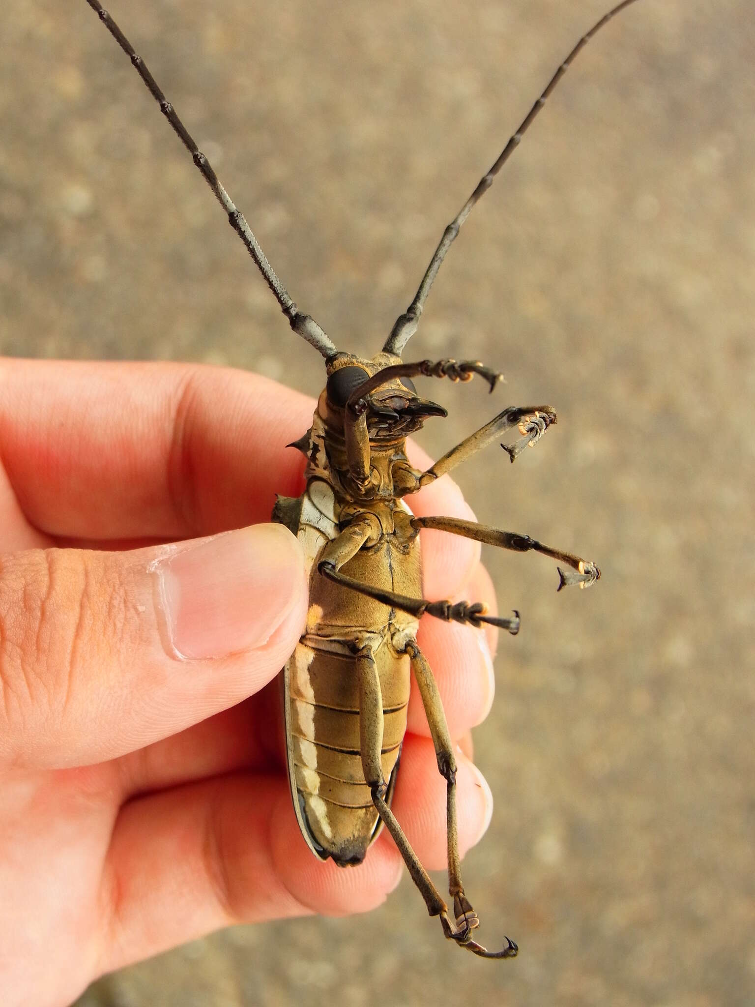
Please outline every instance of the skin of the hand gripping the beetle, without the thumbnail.
M313 408L235 371L0 361L8 1007L67 1003L105 972L229 924L365 911L403 876L385 832L344 870L318 862L296 825L273 681L306 610L293 536L273 533L287 537L290 573L262 643L183 661L155 630L149 570L163 544L267 523L276 492L298 495L303 459L285 445ZM416 447L411 460L429 464ZM412 503L418 515L473 517L448 476ZM494 612L476 543L439 532L422 542L428 597ZM469 729L492 701L496 630L429 618L419 643L459 745L463 851L491 811ZM394 810L426 867L443 868L445 782L414 691Z

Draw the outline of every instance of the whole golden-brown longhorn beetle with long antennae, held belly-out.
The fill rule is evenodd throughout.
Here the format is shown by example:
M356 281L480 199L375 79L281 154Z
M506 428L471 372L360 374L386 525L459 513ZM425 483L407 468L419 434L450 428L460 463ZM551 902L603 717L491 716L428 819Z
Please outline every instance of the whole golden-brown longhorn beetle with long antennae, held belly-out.
M478 362L442 359L407 364L402 353L417 331L430 288L451 244L475 203L517 147L577 53L615 14L623 0L580 38L559 65L519 128L443 232L414 300L399 315L383 349L371 359L336 348L317 322L299 311L244 215L217 179L207 158L166 100L129 40L98 0L87 0L129 56L194 164L228 214L297 335L325 358L327 382L311 428L295 444L306 457L306 489L279 497L273 520L286 525L304 549L310 577L307 624L283 670L288 771L302 835L321 859L345 867L360 863L385 825L399 847L431 916L440 916L446 938L483 958L513 958L508 938L496 952L472 939L477 914L461 880L456 822L456 761L433 673L417 645L422 615L483 623L518 632L519 613L486 614L475 602L422 597L419 533L433 528L515 552L535 550L561 561L559 590L589 587L600 577L593 564L544 545L527 535L501 532L454 518L415 518L404 497L417 492L509 430L519 437L501 444L511 461L556 423L550 406L509 406L427 471L410 465L406 438L446 410L421 398L413 378L468 382L475 375L493 391L499 374ZM410 846L391 811L399 755L407 726L410 673L419 687L438 759L447 781L449 893L446 902Z

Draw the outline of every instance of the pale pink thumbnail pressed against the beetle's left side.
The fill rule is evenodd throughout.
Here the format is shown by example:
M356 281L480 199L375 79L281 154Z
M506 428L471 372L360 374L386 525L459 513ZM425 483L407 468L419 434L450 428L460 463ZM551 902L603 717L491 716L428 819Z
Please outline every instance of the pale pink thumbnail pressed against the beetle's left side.
M298 602L304 564L282 525L181 545L154 564L167 642L179 658L263 646Z

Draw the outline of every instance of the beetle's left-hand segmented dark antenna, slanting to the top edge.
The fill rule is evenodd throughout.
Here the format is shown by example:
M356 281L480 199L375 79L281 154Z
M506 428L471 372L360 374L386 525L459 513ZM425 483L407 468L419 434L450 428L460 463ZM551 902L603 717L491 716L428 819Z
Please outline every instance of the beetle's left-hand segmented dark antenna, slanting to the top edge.
M201 171L204 180L212 189L217 201L228 213L231 227L244 242L247 251L252 256L257 268L262 273L265 282L275 294L276 300L280 304L281 310L288 318L291 328L297 333L297 335L301 335L302 338L311 343L315 349L319 350L324 357L327 358L328 356L332 356L335 352L337 352L335 346L314 318L299 311L296 304L289 296L288 291L278 279L275 270L268 262L267 256L260 247L260 243L253 235L252 229L244 219L244 214L236 208L233 199L220 184L209 161L196 146L190 133L175 114L173 106L166 100L165 95L163 95L162 91L158 88L155 79L152 77L149 69L147 69L142 57L134 50L131 42L118 27L108 11L105 10L102 4L98 2L98 0L87 0L87 3L89 3L90 7L92 7L92 9L97 13L105 27L111 35L113 35L129 59L131 59L131 62L136 68L136 71L139 74L139 77L141 77L142 81L146 84L149 93L160 106L160 111L173 127L173 130L186 150L188 150L189 154L191 154L194 164L197 166L199 171Z

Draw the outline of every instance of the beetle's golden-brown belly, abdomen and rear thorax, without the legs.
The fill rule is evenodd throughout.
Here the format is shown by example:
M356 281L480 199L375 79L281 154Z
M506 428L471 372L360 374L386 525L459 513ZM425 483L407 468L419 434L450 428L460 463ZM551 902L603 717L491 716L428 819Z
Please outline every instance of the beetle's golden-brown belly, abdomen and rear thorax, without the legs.
M416 620L321 577L317 558L338 534L336 501L324 482L312 482L301 497L296 534L310 567L307 627L284 669L284 703L289 776L304 838L320 857L345 865L360 863L380 832L381 821L364 780L359 754L359 701L351 648L367 643L381 680L384 707L382 764L388 798L398 772L407 727L410 662L397 653L393 636L416 633ZM293 529L292 529L293 531ZM394 568L402 563L401 586ZM361 551L343 572L362 583L421 590L419 551L397 552L387 537Z

